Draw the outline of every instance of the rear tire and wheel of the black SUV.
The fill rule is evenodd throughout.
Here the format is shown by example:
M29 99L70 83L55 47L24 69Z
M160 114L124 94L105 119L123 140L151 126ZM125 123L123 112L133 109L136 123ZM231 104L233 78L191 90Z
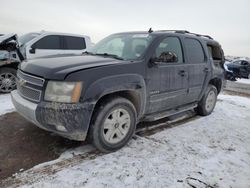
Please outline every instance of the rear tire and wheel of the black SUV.
M201 101L198 103L196 112L201 116L207 116L211 114L216 105L217 95L218 91L216 87L209 84Z

